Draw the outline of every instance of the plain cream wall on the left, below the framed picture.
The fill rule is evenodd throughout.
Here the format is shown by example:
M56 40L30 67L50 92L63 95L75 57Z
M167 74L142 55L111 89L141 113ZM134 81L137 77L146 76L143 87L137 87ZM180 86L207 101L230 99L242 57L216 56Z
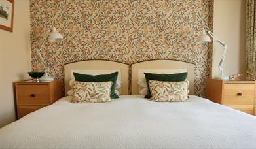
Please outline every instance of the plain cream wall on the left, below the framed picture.
M13 32L0 29L0 127L15 120L13 82L31 68L29 0L16 0Z

